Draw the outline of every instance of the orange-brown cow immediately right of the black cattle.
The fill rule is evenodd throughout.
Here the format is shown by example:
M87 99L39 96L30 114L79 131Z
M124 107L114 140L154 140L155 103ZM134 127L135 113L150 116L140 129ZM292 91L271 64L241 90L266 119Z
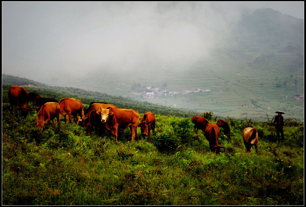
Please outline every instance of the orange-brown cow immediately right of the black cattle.
M72 117L74 117L75 121L77 116L84 116L83 104L80 100L76 100L74 98L62 98L59 103L60 105L60 116L68 115L69 122L71 122ZM68 121L68 120L66 120Z

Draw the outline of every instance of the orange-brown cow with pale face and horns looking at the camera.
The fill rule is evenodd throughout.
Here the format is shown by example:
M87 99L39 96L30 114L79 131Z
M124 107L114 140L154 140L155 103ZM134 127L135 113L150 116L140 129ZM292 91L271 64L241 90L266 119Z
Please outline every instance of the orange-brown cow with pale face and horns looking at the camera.
M114 135L115 141L117 141L118 128L126 129L128 127L132 131L131 141L135 141L135 138L137 139L138 112L133 109L103 109L101 107L98 113L101 115L101 122L106 124L106 129L110 130Z

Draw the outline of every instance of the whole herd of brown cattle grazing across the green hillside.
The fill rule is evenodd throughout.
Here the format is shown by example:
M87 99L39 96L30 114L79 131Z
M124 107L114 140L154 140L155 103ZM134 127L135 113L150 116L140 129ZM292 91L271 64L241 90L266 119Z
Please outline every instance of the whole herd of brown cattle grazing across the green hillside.
M132 141L137 139L137 127L140 127L141 135L150 137L151 130L155 133L155 115L152 112L144 113L140 119L139 113L133 109L119 109L115 105L105 102L92 102L88 109L83 107L80 100L74 98L62 98L59 102L54 98L43 98L37 93L28 93L23 87L14 85L10 87L9 103L11 109L16 106L21 111L21 116L24 118L28 115L28 103L35 103L35 108L38 111L36 117L36 126L43 130L43 124L46 123L46 128L53 122L55 129L55 118L57 119L58 127L60 126L59 117L64 116L66 122L72 119L86 128L87 135L91 134L93 128L104 128L110 131L117 141L118 128L130 128L132 131ZM68 115L68 117L66 117ZM217 124L209 123L207 119L201 116L193 116L191 122L194 124L195 132L201 129L205 138L209 142L210 149L216 153L220 153L221 148L218 144L220 128L223 128L224 134L230 139L230 126L225 120L218 120ZM252 151L255 146L257 152L258 133L256 128L245 128L243 131L243 141L247 152Z

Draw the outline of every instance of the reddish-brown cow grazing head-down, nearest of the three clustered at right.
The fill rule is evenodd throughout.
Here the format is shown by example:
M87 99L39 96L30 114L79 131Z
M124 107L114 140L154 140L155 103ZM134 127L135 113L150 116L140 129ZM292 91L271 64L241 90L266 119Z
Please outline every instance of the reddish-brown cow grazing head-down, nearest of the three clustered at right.
M208 123L205 128L205 138L209 142L210 149L217 154L220 153L221 148L224 148L225 146L220 146L218 143L218 138L220 135L220 129L217 126L217 124Z

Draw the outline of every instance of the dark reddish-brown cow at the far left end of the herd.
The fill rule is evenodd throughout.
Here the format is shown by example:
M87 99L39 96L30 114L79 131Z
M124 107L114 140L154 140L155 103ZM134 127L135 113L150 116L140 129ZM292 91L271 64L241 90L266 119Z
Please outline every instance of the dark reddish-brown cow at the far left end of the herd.
M14 106L20 110L21 116L27 117L28 111L33 111L34 109L28 109L28 103L30 101L29 94L27 90L23 87L13 85L9 88L9 104L13 111Z

